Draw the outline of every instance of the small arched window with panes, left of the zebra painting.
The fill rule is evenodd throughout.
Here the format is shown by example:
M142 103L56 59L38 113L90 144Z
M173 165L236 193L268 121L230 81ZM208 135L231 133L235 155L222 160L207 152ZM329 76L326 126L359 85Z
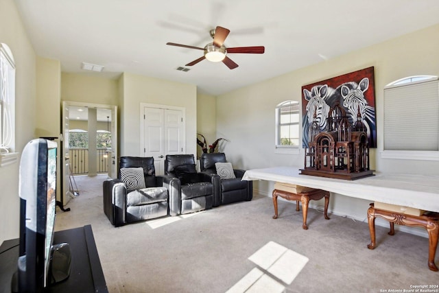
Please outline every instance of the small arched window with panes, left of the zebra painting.
M300 109L296 101L285 101L276 106L276 149L298 148Z

